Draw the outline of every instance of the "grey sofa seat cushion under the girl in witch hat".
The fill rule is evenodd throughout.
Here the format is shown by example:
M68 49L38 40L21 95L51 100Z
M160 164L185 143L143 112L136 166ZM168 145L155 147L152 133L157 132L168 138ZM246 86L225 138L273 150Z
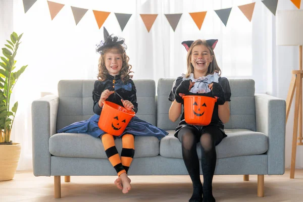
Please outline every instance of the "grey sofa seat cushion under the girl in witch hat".
M119 154L122 150L121 138L115 140ZM49 153L57 157L83 157L107 159L100 138L86 134L58 133L49 138ZM135 137L135 156L156 157L159 155L159 140L154 136Z

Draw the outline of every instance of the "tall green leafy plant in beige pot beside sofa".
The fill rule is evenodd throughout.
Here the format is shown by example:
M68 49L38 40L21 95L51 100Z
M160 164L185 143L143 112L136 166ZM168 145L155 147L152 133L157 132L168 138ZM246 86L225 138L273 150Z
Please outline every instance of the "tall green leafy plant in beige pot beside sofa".
M14 71L21 37L22 34L18 36L13 32L11 40L7 40L8 44L2 48L3 57L0 57L0 181L14 178L20 158L21 144L10 139L18 102L11 106L10 98L19 76L27 67Z

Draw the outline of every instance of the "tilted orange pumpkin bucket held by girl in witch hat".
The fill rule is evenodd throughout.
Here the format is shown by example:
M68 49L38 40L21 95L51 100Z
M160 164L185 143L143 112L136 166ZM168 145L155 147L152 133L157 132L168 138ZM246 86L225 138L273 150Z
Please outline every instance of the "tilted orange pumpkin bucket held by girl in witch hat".
M120 136L134 116L134 112L115 103L104 101L98 126L111 135Z

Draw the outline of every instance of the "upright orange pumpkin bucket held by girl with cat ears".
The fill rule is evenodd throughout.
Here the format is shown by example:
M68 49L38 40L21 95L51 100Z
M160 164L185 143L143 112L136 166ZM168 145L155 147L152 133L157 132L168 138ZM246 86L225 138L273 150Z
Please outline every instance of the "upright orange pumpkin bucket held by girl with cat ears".
M201 95L185 95L184 118L185 122L192 125L206 126L211 123L217 97Z

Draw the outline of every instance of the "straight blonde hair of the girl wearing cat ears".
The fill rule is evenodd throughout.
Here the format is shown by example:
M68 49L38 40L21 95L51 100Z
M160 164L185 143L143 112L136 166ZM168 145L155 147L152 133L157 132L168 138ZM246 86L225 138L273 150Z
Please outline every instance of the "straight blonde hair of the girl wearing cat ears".
M213 57L213 61L210 63L206 75L214 74L214 72L217 72L220 76L221 69L218 66L213 48L207 43L206 40L198 39L198 40L195 40L192 42L192 44L190 45L188 52L187 52L187 57L186 57L187 58L187 72L185 74L186 78L188 78L191 73L194 73L194 68L191 64L191 54L192 54L193 47L196 45L205 45L206 47L208 47L211 57Z

